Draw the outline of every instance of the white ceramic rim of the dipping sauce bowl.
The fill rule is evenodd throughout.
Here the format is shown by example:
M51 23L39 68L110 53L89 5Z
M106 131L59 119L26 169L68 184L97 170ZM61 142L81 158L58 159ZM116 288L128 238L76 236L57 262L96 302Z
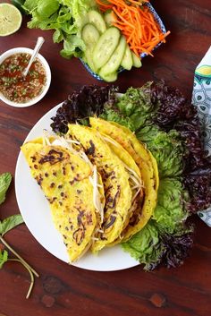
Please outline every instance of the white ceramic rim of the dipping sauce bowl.
M33 52L33 49L30 49L27 47L15 47L15 48L9 49L0 56L0 64L2 64L7 57L12 56L14 54L27 53L27 54L31 55L32 52ZM50 87L51 70L50 70L49 64L46 62L46 59L43 56L38 54L38 59L41 62L41 64L44 66L45 71L46 71L46 86L45 86L44 90L42 91L42 93L37 98L31 99L27 103L16 103L16 102L8 100L8 98L5 98L3 93L0 92L0 99L4 103L6 103L7 105L12 106L12 107L30 107L30 106L33 106L34 104L38 103L38 101L40 101L42 98L44 98L47 90Z

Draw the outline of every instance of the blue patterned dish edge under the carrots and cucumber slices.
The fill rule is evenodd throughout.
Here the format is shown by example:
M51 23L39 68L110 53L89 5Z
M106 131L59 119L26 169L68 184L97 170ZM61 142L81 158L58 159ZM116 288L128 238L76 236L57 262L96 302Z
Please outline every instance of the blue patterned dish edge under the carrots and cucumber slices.
M145 5L147 5L148 8L149 8L149 10L151 11L151 13L153 13L154 18L155 18L155 20L157 21L157 24L158 24L159 27L160 27L160 30L162 30L163 34L165 34L165 33L166 33L165 24L164 24L164 22L161 20L161 18L159 17L159 15L156 13L156 10L155 10L154 7L152 6L152 4L147 3L147 4L145 4ZM159 47L161 44L162 44L162 42L158 43L154 49L156 49L157 47ZM143 58L143 57L145 57L145 56L148 56L148 54L142 53L142 54L140 55L141 58ZM87 69L87 71L88 71L94 78L96 78L96 79L99 80L99 81L103 81L103 79L100 78L100 76L99 76L97 73L94 73L94 72L89 68L89 65L86 64L81 58L80 58L80 62L84 65L84 67ZM124 69L121 67L121 68L119 69L119 73L122 73L123 71L124 71Z

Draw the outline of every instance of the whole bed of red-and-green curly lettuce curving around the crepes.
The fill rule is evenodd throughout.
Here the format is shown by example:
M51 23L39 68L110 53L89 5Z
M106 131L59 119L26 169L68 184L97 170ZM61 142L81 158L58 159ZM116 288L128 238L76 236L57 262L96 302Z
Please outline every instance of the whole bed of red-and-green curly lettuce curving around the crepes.
M89 125L90 116L128 127L156 158L160 184L153 216L124 251L145 265L177 267L189 255L194 227L190 215L211 205L211 163L203 149L196 107L165 81L147 82L122 96L115 87L84 86L52 117L54 132Z

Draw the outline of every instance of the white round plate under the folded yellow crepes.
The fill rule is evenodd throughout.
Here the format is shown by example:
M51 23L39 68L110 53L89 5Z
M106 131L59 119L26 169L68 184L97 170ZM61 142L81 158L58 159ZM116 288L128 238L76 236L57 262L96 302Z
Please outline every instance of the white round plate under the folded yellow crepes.
M40 137L44 129L51 131L51 117L55 116L58 107L61 107L61 104L41 117L25 141ZM30 233L48 252L56 258L68 262L63 239L55 229L48 202L37 182L31 177L30 167L21 152L15 170L15 192L22 218L30 229ZM114 271L137 266L139 261L131 258L129 253L123 252L120 245L115 245L98 252L97 256L88 252L72 265L81 269Z

